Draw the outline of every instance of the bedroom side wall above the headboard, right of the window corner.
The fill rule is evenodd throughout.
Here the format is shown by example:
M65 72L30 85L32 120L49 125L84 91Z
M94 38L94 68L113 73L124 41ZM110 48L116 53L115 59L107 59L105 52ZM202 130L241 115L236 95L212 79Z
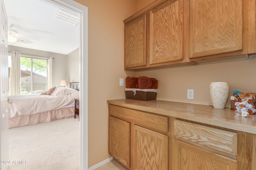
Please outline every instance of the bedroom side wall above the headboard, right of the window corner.
M79 82L80 66L79 48L67 55L67 79L68 82Z

